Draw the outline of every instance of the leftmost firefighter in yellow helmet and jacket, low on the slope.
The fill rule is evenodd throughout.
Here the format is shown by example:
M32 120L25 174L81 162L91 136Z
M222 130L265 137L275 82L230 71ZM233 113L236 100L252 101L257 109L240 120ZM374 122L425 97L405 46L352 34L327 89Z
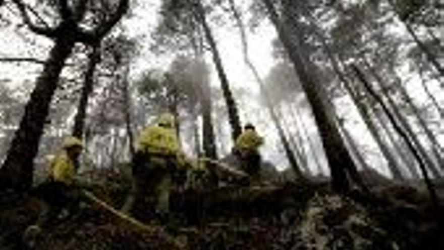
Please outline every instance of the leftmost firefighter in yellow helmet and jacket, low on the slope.
M48 167L48 179L36 188L36 193L45 204L36 225L27 228L24 234L26 241L38 233L41 228L57 225L64 209L68 217L73 216L79 208L79 190L76 188L76 171L79 168L78 157L83 143L76 137L67 137L62 151L55 156ZM65 218L68 219L68 218Z

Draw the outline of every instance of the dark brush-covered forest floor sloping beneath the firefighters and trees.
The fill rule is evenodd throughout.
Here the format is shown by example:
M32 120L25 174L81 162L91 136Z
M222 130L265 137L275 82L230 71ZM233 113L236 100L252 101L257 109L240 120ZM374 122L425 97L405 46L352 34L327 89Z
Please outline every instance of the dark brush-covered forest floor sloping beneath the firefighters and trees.
M167 226L144 221L141 228L83 202L73 219L42 231L32 249L444 249L442 227L417 184L397 184L372 173L366 177L372 196L340 196L320 178L310 184L188 190L173 196L181 209ZM124 178L106 172L95 178L102 185L91 191L120 208L128 192ZM444 194L444 181L436 183ZM40 201L5 196L3 201L0 250L30 249L22 235L35 222ZM196 215L199 222L190 221Z

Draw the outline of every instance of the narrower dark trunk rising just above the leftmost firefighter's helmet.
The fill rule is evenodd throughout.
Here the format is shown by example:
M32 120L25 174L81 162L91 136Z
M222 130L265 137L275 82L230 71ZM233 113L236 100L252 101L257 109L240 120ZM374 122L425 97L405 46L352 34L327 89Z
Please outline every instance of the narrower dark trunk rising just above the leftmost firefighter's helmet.
M82 93L80 96L77 114L74 117L74 127L72 135L78 138L83 137L83 129L85 127L86 109L88 107L89 95L94 86L94 71L100 62L100 45L94 45L91 53L88 55L88 68L85 72L85 80L83 82Z

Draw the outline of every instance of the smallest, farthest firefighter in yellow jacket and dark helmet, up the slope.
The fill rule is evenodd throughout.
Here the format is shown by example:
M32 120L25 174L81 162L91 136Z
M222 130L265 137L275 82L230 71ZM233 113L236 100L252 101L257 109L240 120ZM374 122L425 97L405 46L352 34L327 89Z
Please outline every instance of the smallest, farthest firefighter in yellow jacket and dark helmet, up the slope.
M240 160L241 169L250 175L252 181L260 178L261 156L258 149L262 144L263 138L254 126L248 123L234 146L234 155Z

